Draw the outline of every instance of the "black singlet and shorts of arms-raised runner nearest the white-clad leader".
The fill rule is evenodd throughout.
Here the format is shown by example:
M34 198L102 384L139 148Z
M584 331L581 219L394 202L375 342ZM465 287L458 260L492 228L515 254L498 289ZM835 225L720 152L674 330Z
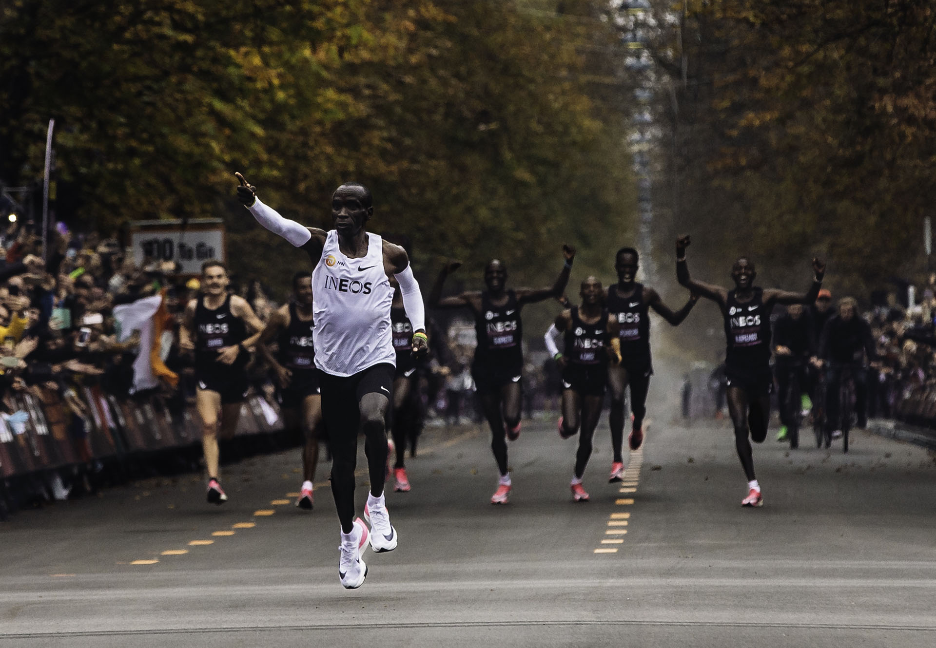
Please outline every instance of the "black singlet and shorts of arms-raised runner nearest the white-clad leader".
M523 373L519 302L514 291L508 290L506 294L505 305L494 306L490 295L481 293L481 312L475 320L477 348L472 363L472 376L481 391L519 382Z

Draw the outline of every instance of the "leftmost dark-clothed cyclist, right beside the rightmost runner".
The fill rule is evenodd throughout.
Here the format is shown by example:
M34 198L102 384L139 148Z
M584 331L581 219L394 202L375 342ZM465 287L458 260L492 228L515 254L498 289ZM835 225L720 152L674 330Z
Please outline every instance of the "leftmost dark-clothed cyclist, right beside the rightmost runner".
M790 386L794 379L800 392L796 395L795 407L812 409L812 402L806 393L806 367L808 360L815 353L816 340L809 313L802 304L790 304L786 307L786 313L778 317L773 324L773 372L777 379L777 403L781 423L780 432L777 434L778 441L786 439L787 429L793 424L793 417L798 414L797 410L787 406Z

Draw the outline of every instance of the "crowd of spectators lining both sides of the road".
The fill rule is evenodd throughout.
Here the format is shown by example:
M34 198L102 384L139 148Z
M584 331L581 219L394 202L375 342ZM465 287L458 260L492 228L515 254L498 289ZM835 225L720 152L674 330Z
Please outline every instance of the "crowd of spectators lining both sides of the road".
M160 340L160 355L181 377L179 388L163 384L161 390L176 407L184 407L194 396L194 384L177 328L185 304L197 295L197 279L178 277L172 264L147 260L138 265L117 238L76 234L62 225L52 232L45 261L42 252L41 239L22 223L10 223L0 233L0 417L7 426L22 423L25 415L16 396L39 386L60 396L72 417L70 429L79 435L92 413L76 396L78 386L94 382L110 395L129 396L140 338L122 335L114 308L160 293L172 318ZM236 279L232 289L266 321L277 306L268 291L258 281ZM901 304L896 295L886 295L872 300L876 305L862 314L876 355L868 380L870 416L936 425L936 275L921 296L919 303L911 298ZM834 312L834 302L826 303ZM813 310L812 317L824 321L827 314ZM473 333L471 323L456 321L434 336L434 361L419 387L428 420L440 425L480 421L470 371ZM259 354L248 371L255 389L272 397L270 374ZM548 358L528 353L527 415L557 407L557 375Z

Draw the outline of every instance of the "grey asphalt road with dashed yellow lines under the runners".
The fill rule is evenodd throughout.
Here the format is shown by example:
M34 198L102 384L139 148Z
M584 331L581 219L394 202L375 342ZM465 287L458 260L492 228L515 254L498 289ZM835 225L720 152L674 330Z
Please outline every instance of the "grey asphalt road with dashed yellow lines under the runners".
M0 524L0 645L936 645L933 454L768 440L752 510L724 423L653 423L608 484L603 418L578 504L577 442L526 422L491 506L484 430L427 429L413 490L388 493L400 546L354 591L327 482L312 512L288 495L298 452L225 468L222 507L188 475L22 511Z

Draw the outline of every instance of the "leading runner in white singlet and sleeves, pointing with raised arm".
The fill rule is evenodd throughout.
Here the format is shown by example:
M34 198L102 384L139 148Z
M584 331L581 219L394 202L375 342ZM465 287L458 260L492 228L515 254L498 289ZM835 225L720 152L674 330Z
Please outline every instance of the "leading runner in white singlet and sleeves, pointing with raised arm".
M398 245L364 231L373 215L371 192L345 183L331 198L335 229L326 232L289 221L264 205L237 174L238 198L257 222L309 253L315 266L315 367L322 392L322 417L331 449L331 492L342 526L338 575L348 589L364 583L367 566L360 554L370 540L374 552L392 551L397 531L384 500L387 416L393 389L390 303L400 286L403 307L413 323L414 353L428 351L425 310L409 257ZM371 492L364 507L370 529L354 511L354 471L358 433L365 436Z

